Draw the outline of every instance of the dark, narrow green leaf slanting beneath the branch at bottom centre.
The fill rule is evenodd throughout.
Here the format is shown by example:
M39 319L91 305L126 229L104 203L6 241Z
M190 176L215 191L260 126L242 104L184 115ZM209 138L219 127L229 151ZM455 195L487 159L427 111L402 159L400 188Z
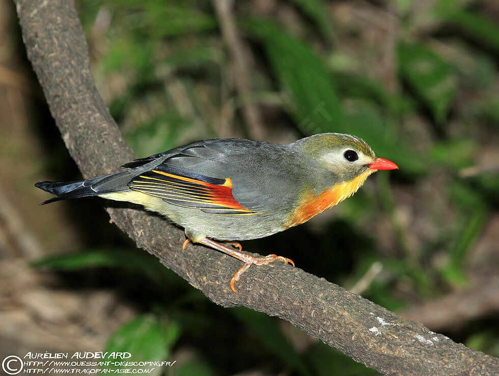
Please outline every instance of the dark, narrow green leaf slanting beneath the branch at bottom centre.
M275 318L245 307L231 308L230 312L255 335L267 352L281 359L284 364L299 374L309 374L300 356L277 325Z

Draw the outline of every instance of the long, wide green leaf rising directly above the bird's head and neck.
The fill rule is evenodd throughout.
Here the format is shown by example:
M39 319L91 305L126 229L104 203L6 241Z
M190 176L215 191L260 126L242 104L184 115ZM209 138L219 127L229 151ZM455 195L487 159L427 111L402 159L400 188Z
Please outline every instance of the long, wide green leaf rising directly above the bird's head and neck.
M251 20L245 27L263 44L287 95L286 110L301 131L341 131L343 116L337 89L323 59L272 23Z

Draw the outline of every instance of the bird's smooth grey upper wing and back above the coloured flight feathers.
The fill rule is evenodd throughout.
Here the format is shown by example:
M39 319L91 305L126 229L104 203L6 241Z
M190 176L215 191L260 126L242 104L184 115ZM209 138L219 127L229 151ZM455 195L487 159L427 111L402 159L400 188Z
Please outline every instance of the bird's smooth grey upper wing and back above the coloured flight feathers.
M297 181L294 155L282 145L239 139L197 141L137 160L124 167L147 170L175 166L204 176L231 179L232 196L253 211L289 210L297 201L290 187ZM294 179L294 180L293 180Z

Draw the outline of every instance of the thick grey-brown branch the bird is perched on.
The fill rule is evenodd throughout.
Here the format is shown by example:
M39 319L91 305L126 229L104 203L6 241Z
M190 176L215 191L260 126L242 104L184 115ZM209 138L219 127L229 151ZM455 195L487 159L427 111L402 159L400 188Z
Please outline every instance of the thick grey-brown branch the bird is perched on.
M72 158L85 177L117 171L133 154L95 87L73 2L15 3L27 55ZM137 246L213 302L279 316L380 372L493 374L499 369L499 359L467 349L290 265L250 268L234 294L229 280L239 261L203 246L182 250L183 231L143 210L107 211Z

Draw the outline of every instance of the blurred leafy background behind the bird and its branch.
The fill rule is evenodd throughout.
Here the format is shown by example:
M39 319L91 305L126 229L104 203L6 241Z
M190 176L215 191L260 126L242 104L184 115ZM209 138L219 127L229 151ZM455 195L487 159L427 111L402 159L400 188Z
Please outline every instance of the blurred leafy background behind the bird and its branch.
M220 3L77 2L135 154L212 137L364 138L400 169L244 249L499 356L497 2ZM214 305L109 224L104 200L38 206L36 181L79 178L0 0L2 359L107 349L177 360L167 374L373 373L289 323Z

